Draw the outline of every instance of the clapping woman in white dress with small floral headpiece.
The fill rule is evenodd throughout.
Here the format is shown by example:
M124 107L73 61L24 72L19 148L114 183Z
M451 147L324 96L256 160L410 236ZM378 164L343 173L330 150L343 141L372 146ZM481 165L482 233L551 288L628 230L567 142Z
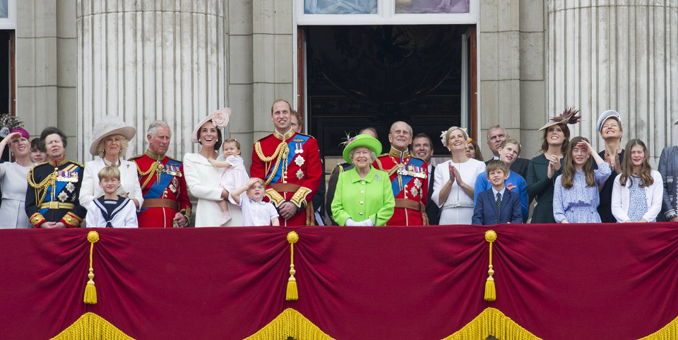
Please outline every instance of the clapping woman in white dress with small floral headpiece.
M441 140L452 159L436 166L431 199L440 208L439 223L471 224L475 179L485 172L485 163L466 156L468 134L464 129L451 127Z

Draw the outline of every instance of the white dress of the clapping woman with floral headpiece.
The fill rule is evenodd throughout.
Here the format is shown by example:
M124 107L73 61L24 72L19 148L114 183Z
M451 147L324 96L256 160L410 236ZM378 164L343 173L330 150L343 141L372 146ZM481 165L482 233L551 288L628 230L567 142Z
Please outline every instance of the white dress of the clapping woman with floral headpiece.
M431 199L440 208L439 224L471 224L474 207L473 196L469 197L456 181L452 184L447 200L444 202L439 201L440 189L450 180L450 172L448 170L450 164L454 165L459 171L464 183L473 188L475 187L475 180L478 175L485 172L485 163L470 158L464 163L453 163L452 160L448 160L436 165Z

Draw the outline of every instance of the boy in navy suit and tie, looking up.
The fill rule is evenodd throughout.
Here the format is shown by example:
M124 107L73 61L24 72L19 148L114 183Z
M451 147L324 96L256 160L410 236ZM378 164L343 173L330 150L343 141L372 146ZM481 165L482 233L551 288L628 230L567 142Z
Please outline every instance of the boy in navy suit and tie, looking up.
M522 223L521 197L506 189L504 185L509 178L506 164L501 160L490 160L485 171L492 188L478 194L471 223L478 225Z

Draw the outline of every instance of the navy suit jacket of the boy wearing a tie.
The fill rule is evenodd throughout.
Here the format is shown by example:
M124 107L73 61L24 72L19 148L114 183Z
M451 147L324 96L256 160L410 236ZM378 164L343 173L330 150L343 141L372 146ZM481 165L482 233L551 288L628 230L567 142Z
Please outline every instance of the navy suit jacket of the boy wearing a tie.
M471 224L490 225L508 222L523 223L520 194L509 189L504 190L504 197L501 197L499 216L496 215L496 198L492 188L478 194Z

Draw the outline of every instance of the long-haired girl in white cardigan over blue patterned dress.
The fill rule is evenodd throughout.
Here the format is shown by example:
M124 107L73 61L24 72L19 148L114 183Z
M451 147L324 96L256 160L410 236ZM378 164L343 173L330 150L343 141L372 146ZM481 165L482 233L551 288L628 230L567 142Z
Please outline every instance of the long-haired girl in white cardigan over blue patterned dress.
M662 175L650 167L648 148L640 139L626 143L626 152L622 173L612 185L612 215L619 223L655 222L662 209Z

